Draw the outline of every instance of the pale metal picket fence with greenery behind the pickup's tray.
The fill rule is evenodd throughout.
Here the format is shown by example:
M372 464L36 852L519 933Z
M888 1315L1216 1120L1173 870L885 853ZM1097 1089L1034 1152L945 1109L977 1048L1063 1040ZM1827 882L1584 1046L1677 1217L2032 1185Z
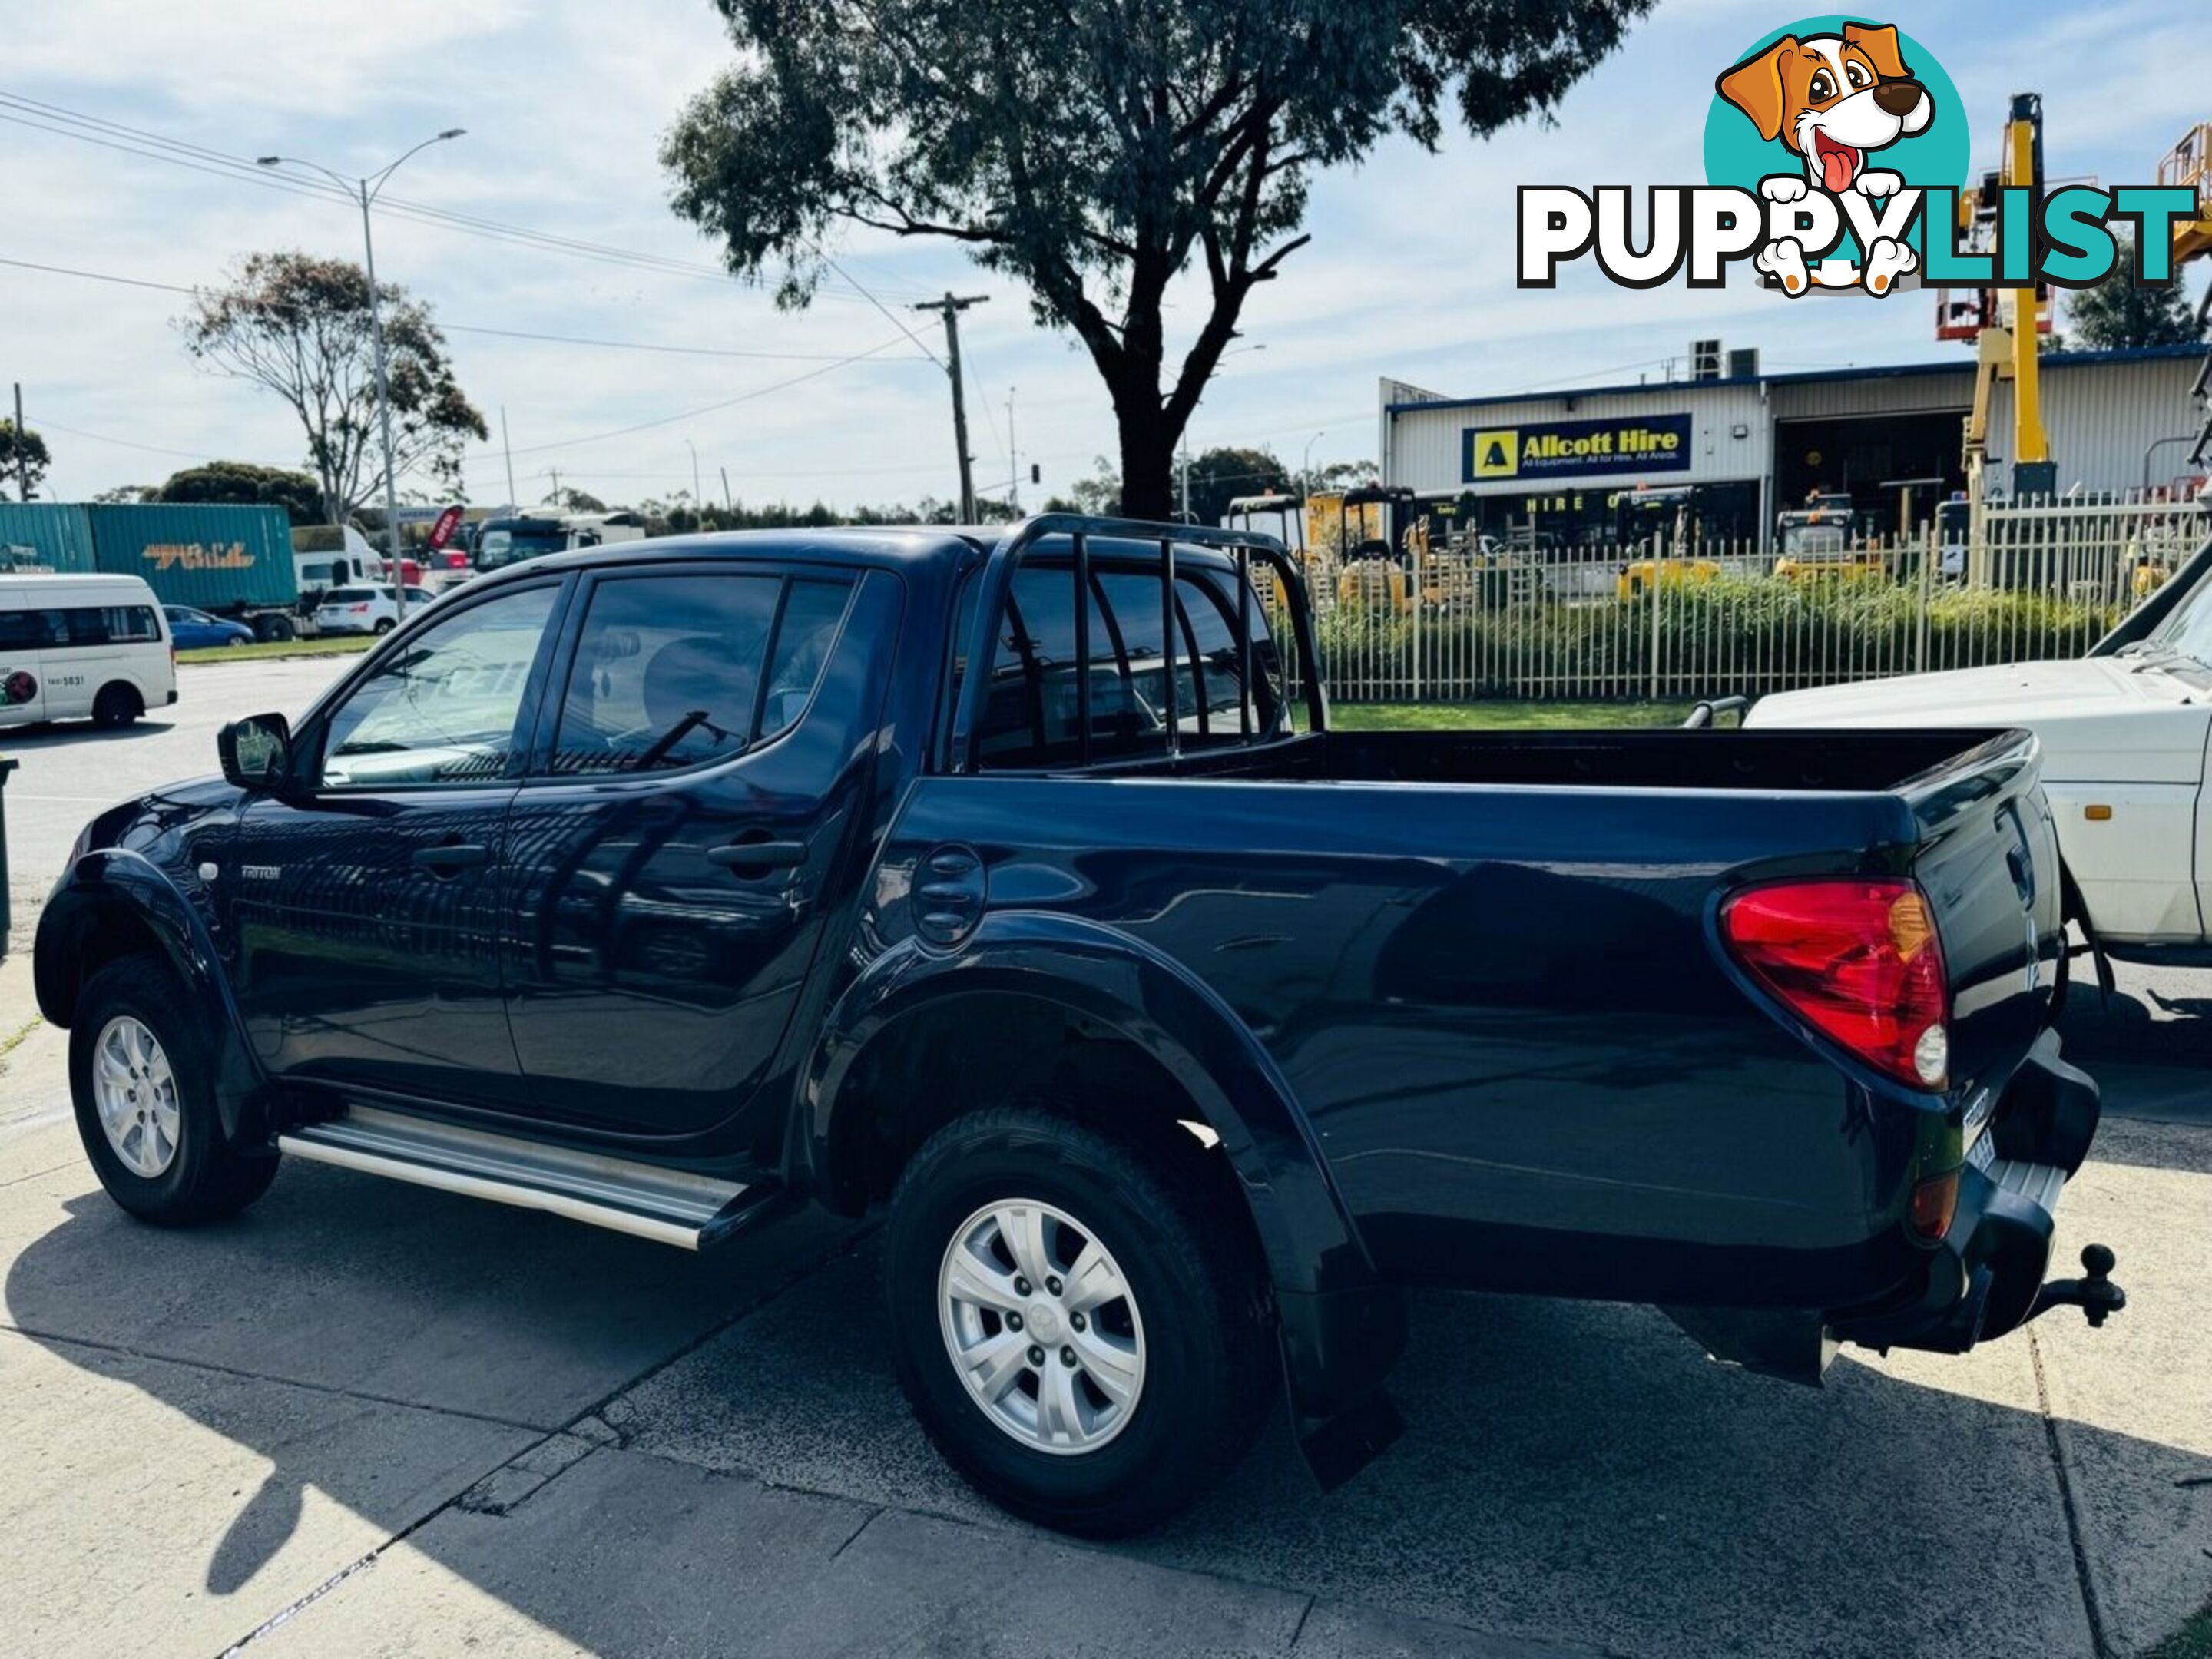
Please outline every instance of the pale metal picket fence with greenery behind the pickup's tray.
M1303 557L1338 699L1692 699L2079 657L2208 522L2192 502L2141 495L1986 507L1913 538L1778 553L1458 538Z

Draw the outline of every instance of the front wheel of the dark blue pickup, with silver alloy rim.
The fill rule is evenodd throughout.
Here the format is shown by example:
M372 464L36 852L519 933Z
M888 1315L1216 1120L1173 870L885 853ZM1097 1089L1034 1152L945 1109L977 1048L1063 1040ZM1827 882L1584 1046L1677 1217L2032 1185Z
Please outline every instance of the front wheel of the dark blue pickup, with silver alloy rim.
M223 1139L215 1053L181 1004L168 967L133 956L93 975L69 1031L69 1093L100 1186L161 1225L234 1214L276 1177L274 1152Z

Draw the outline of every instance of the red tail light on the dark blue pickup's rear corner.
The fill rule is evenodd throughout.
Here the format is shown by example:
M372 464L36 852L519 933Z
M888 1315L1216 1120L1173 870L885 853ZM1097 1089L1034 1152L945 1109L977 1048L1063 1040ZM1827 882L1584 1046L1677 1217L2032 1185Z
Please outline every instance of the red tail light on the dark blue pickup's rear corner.
M1951 989L1927 896L1909 880L1794 880L1721 907L1743 969L1887 1077L1951 1082Z

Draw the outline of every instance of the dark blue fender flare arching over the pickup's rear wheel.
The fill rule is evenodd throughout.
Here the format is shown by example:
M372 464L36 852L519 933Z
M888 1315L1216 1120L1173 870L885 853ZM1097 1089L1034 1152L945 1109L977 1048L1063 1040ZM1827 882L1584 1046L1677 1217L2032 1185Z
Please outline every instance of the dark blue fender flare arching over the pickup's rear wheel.
M1312 1126L1237 1013L1141 940L1046 911L995 911L951 953L902 940L845 989L801 1084L796 1144L818 1190L834 1186L830 1135L838 1097L869 1042L898 1020L980 993L1037 998L1093 1020L1190 1091L1237 1170L1279 1292L1376 1283Z

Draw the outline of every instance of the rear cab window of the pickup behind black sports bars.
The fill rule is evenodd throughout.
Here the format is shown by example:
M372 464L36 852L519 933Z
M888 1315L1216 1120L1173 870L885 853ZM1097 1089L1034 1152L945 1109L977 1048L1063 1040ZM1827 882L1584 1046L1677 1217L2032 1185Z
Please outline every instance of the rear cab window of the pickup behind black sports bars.
M1237 635L1237 582L1183 571L1175 582L1175 726L1183 748L1245 741ZM1274 641L1252 604L1250 726L1281 721ZM1159 575L1102 566L1091 584L1091 757L1166 750L1168 686ZM964 664L956 666L960 672ZM987 765L1057 765L1082 754L1075 661L1075 582L1066 566L1015 571L1013 597L991 664L991 699L978 730Z

